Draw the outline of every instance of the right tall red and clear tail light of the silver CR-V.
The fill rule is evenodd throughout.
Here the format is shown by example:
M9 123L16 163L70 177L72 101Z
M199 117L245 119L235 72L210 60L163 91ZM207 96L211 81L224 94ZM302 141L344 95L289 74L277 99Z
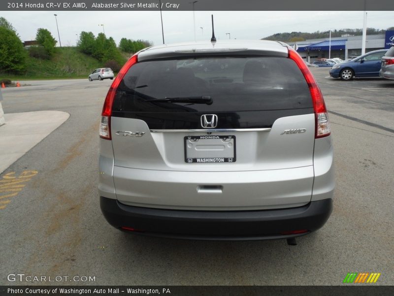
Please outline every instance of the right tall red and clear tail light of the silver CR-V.
M326 104L324 103L322 92L308 66L304 63L299 54L289 47L289 59L296 62L299 70L305 77L311 93L313 109L315 111L315 139L327 137L331 133L331 127L328 121Z

